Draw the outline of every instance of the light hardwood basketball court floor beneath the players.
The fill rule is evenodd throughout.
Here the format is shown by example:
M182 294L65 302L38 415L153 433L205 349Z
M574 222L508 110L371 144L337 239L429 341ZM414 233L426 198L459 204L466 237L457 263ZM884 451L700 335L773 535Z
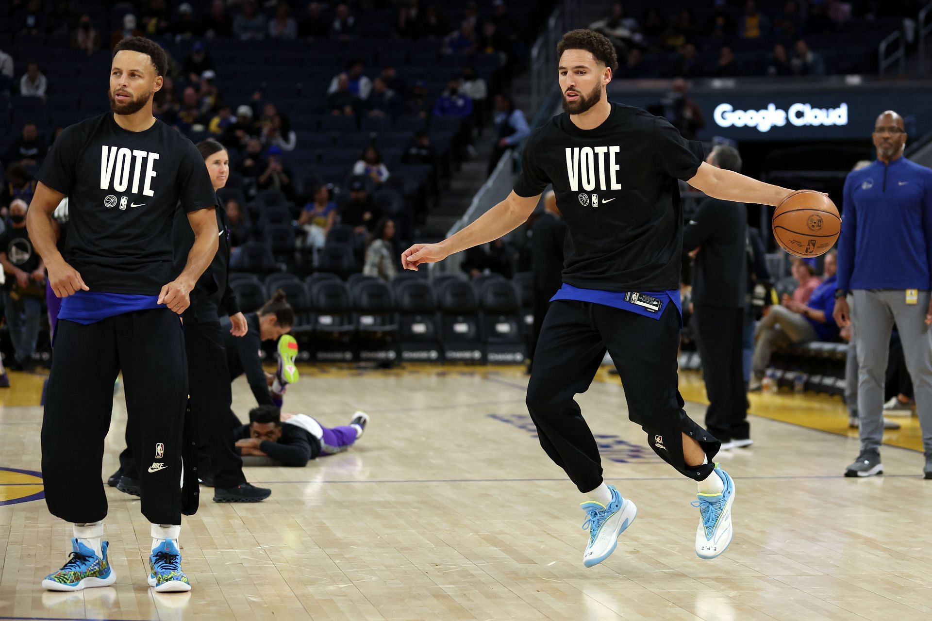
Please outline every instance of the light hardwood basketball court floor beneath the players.
M884 447L885 477L844 479L857 439L754 417L754 447L720 457L737 486L734 542L719 559L699 560L694 484L646 447L626 420L617 378L601 374L579 400L603 447L606 478L638 515L610 559L585 569L580 494L534 437L519 369L302 372L287 411L336 425L362 409L372 416L366 435L305 468L247 469L273 490L259 505L215 504L202 488L201 509L182 531L189 594L145 586L148 524L137 500L111 488L105 528L116 586L43 592L39 581L65 559L70 528L42 500L0 501L0 619L932 615L932 481L921 478L919 452ZM22 405L37 402L35 386L28 389L12 389L0 412L0 467L40 469L41 410ZM690 378L684 392L702 397ZM234 395L242 417L252 403L243 381ZM771 397L761 399L780 403ZM808 402L788 399L785 408ZM837 399L813 402L842 420ZM702 419L703 406L687 408ZM120 393L103 477L116 469L124 421ZM80 467L80 446L74 460ZM39 484L28 472L0 471L7 502Z

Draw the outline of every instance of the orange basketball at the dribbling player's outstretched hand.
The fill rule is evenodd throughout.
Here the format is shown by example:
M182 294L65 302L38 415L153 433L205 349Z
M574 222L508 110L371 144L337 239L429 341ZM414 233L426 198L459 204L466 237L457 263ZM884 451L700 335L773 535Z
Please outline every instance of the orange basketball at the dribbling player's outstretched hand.
M835 245L842 218L829 196L799 190L776 206L773 226L780 248L798 257L817 257Z

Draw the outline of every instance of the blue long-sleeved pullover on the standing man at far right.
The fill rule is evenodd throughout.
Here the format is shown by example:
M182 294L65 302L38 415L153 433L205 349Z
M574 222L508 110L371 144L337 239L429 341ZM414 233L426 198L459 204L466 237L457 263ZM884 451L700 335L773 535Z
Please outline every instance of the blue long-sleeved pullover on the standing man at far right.
M932 289L932 169L875 160L844 182L838 289Z

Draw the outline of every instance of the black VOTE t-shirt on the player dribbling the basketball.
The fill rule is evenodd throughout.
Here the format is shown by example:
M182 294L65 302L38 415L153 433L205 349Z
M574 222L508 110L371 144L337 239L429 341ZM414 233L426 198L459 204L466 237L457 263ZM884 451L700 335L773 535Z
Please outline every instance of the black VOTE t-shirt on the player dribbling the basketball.
M528 139L518 196L553 183L569 235L563 281L580 289L679 289L683 218L677 180L695 176L700 142L665 118L611 104L595 129L556 115Z

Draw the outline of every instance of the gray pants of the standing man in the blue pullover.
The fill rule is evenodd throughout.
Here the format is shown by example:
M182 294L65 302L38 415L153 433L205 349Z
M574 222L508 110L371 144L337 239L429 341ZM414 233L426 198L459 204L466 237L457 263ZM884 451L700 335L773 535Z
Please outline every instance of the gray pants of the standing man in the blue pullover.
M879 452L884 439L884 383L896 323L915 388L925 456L932 456L932 331L925 325L929 291L919 291L916 304L906 304L904 290L857 289L852 297L861 451Z

